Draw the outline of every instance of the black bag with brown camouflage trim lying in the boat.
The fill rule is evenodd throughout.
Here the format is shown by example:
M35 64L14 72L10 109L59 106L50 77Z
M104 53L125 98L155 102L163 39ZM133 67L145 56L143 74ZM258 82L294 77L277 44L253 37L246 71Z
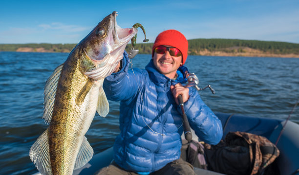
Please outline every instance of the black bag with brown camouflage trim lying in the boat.
M230 132L217 145L205 144L208 169L227 175L261 175L279 156L279 150L262 136Z

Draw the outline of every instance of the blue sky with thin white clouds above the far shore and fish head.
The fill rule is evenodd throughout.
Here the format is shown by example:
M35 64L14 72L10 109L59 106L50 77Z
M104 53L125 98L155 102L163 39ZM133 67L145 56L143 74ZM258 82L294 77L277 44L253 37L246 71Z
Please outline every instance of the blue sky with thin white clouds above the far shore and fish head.
M122 28L141 23L150 42L176 29L187 39L299 43L299 0L2 0L0 43L78 43L113 11Z

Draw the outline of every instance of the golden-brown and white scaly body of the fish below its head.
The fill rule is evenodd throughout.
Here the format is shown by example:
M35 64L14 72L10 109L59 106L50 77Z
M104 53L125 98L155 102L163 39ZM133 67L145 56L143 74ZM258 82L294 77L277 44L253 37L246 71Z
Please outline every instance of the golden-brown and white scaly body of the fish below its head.
M81 146L83 137L96 111L99 90L90 89L82 105L76 105L75 99L80 90L88 81L88 77L79 70L79 59L71 55L64 64L62 76L58 82L57 98L54 102L54 110L51 124L49 125L49 150L53 174L64 174L71 171L69 164L74 164L77 152L76 146ZM69 86L71 85L71 86ZM78 138L82 138L79 140ZM55 154L61 152L64 154ZM61 162L64 162L61 165Z

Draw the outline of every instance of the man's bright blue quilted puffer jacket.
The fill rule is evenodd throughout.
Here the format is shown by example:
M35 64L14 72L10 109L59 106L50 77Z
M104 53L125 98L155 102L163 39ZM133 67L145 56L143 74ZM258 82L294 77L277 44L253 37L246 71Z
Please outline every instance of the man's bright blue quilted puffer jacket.
M152 60L146 70L128 67L124 53L122 70L108 76L103 86L109 100L121 101L121 133L114 143L114 161L126 170L154 172L181 154L181 111L170 91L178 82L159 73ZM177 80L184 83L179 70ZM217 144L222 137L220 120L194 88L189 95L184 109L192 129L201 140Z

